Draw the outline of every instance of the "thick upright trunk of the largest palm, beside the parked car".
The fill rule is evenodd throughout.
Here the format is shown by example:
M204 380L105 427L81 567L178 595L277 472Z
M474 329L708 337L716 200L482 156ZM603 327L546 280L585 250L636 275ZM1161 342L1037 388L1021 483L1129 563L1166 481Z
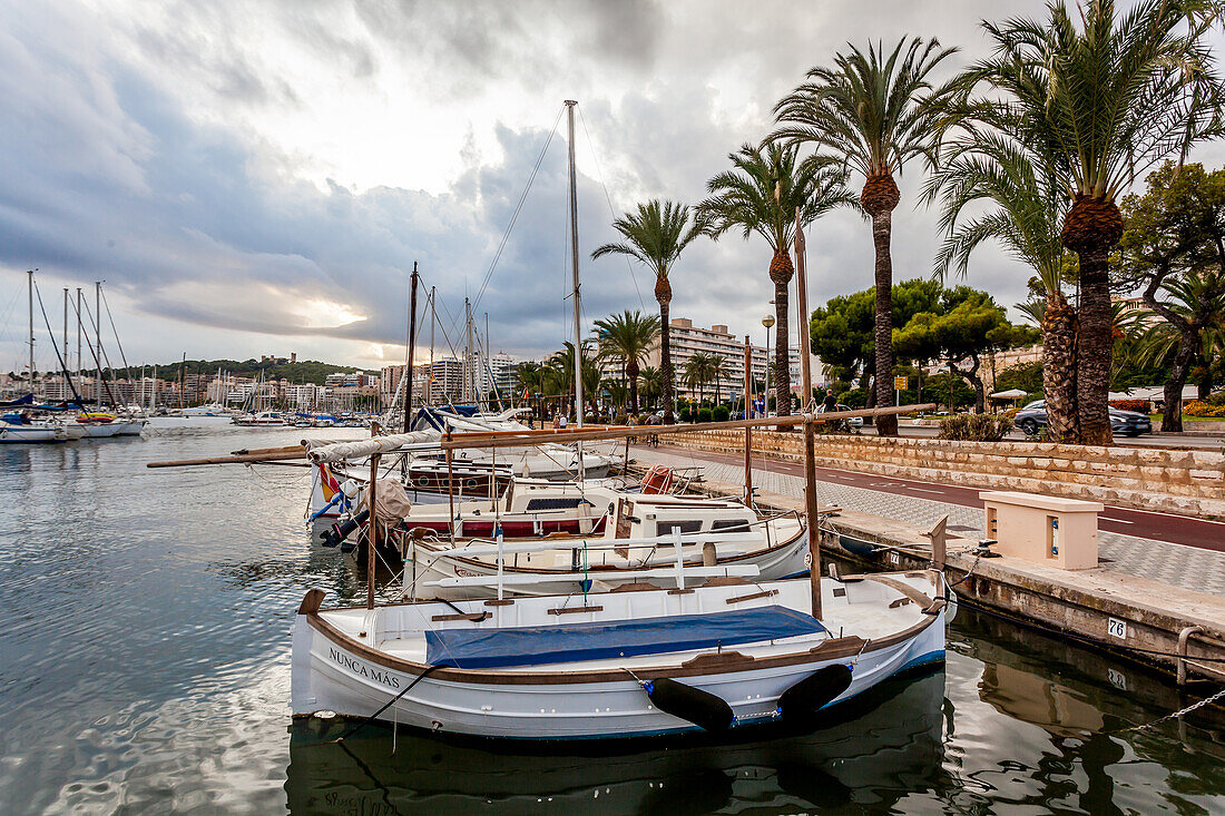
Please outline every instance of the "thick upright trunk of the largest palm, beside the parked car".
M1080 442L1110 445L1110 370L1115 336L1110 308L1109 261L1105 245L1080 256L1080 331L1077 334L1076 396Z

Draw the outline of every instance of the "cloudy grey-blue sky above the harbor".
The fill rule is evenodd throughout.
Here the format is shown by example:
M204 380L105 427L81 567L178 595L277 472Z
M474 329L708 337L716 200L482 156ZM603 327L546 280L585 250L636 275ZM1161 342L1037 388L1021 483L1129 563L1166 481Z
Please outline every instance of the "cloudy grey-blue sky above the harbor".
M699 200L730 151L766 135L773 103L848 40L937 37L963 49L954 70L984 53L984 12L1040 4L0 0L0 12L11 370L27 354L32 267L56 327L62 287L105 281L134 363L402 358L414 261L451 342L467 294L495 350L550 352L572 331L564 99L579 100L586 316L654 310L649 272L589 260L612 239L610 210ZM1219 165L1225 151L1197 158ZM938 243L935 214L915 208L921 180L918 165L900 179L897 279L929 274ZM871 284L870 230L851 213L816 224L809 254L813 303ZM762 342L768 262L760 239L695 245L673 314ZM1027 277L984 251L969 282L1012 304ZM39 368L53 365L38 347Z

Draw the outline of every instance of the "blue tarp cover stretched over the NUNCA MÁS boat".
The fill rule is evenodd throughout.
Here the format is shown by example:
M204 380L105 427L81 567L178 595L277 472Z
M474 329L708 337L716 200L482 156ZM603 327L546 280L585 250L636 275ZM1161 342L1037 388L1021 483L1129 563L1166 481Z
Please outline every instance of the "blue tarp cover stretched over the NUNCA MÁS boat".
M785 606L606 624L445 629L425 632L425 662L458 669L543 665L713 649L826 631L811 615Z

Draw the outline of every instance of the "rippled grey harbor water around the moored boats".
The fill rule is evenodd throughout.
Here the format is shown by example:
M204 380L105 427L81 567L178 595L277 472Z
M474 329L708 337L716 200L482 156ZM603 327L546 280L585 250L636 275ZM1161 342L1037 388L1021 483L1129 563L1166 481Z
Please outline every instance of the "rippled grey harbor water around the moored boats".
M947 664L812 733L501 745L289 717L303 594L364 595L312 543L309 470L146 469L356 430L158 419L0 448L0 811L1221 814L1225 716L1142 668L962 609Z

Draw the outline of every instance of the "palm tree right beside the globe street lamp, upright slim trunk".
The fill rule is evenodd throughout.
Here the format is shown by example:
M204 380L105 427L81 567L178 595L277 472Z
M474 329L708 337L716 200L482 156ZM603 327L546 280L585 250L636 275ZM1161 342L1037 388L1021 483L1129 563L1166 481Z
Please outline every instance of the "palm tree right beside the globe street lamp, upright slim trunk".
M795 235L795 216L812 223L839 205L854 201L843 185L844 175L823 159L799 161L799 148L768 142L762 148L745 145L728 156L734 169L707 183L709 198L699 205L710 221L710 234L718 239L737 228L744 238L757 233L773 250L769 277L774 282L774 311L778 333L774 341L774 388L779 414L790 413L791 366L788 331L788 287L795 268L790 244ZM807 320L807 315L804 316Z

